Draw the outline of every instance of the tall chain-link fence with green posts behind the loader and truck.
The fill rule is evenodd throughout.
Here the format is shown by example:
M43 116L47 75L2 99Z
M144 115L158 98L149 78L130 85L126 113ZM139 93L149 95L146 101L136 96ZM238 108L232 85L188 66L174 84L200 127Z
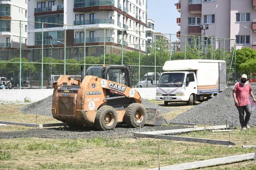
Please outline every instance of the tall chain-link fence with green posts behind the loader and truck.
M227 80L234 82L236 77L234 39L152 33L154 41L150 41L145 27L139 25L117 30L80 22L63 25L61 20L0 19L0 23L9 28L6 42L0 42L0 77L16 88L46 88L51 75L81 75L81 66L86 71L102 64L130 65L132 87L156 87L165 61L185 59L225 60ZM14 35L12 39L9 34Z

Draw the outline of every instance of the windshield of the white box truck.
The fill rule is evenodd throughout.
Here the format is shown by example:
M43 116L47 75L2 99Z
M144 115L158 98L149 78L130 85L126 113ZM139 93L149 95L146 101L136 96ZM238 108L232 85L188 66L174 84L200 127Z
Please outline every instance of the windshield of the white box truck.
M184 73L164 73L158 81L158 87L181 87L184 77Z

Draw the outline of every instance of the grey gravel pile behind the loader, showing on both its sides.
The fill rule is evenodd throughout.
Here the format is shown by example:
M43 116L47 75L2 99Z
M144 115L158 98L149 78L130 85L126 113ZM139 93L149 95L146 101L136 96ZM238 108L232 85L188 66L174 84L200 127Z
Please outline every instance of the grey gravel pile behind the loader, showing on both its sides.
M152 102L149 102L146 99L142 99L142 104L145 108L148 109L157 109L160 114L168 113L172 110L175 110L171 107L165 108L162 106L159 106L157 104L154 104ZM38 102L28 104L22 108L20 108L21 113L37 113L44 116L50 116L52 117L52 95L46 97L43 100L40 100Z

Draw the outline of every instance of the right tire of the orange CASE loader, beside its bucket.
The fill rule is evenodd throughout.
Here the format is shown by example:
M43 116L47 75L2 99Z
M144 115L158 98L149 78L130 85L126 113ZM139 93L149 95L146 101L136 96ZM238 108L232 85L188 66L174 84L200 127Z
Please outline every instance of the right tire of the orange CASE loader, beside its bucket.
M132 103L125 109L125 123L133 128L144 126L148 118L145 107L140 103Z

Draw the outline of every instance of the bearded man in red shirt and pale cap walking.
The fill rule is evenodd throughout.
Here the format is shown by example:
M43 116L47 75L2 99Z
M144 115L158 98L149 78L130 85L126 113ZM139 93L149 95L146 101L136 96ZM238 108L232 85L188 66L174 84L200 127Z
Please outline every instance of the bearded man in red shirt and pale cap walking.
M242 130L250 129L249 120L251 117L251 103L249 100L249 94L252 97L253 101L256 102L256 99L252 93L251 85L246 82L247 75L243 74L241 76L241 81L236 83L233 88L233 97L235 100L235 106L239 112L239 119ZM246 112L246 116L244 119L244 111Z

